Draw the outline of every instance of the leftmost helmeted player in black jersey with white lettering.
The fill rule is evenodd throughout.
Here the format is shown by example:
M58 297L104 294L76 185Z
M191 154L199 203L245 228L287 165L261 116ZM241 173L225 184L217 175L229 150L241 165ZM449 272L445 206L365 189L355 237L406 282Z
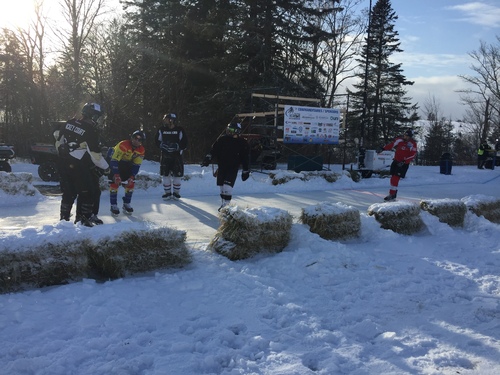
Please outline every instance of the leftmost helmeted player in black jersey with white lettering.
M69 221L75 199L79 211L75 223L92 227L95 201L95 170L105 170L108 163L101 155L96 124L103 115L97 103L87 103L82 108L82 118L68 120L54 132L59 155L60 186L62 191L61 220ZM95 215L94 215L95 216Z

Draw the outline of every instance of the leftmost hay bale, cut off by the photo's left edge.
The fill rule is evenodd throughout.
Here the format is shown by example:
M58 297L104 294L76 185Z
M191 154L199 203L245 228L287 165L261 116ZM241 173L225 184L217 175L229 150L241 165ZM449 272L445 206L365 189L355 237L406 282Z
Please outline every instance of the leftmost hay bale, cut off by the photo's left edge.
M0 252L0 293L62 285L87 276L90 240L47 243L37 247Z

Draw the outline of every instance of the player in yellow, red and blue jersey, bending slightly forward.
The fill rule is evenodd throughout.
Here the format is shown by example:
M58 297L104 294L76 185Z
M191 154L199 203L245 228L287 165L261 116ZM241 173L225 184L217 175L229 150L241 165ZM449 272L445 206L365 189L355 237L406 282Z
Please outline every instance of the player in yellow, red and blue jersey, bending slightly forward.
M120 185L125 188L123 200L123 212L131 215L134 209L130 205L132 194L134 193L135 176L141 168L146 150L142 145L146 140L146 134L141 130L136 130L130 139L119 142L109 150L109 202L111 204L111 215L120 214L118 208L118 189Z

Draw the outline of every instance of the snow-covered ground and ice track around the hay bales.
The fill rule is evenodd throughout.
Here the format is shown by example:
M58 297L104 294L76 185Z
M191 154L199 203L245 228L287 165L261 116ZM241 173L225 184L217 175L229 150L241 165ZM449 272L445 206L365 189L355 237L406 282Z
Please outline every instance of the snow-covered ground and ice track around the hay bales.
M12 168L41 184L36 166ZM181 201L163 202L161 186L138 190L132 217L111 217L104 192L105 225L94 228L59 222L59 196L0 191L0 249L164 225L186 230L194 258L182 270L0 295L0 374L500 373L499 225L468 214L457 229L422 213L427 229L403 236L366 214L388 179L274 186L254 172L236 182L235 204L298 217L342 202L360 210L362 233L325 241L296 222L282 253L232 262L206 250L220 204L211 168L186 172ZM411 166L399 197L500 197L500 169L452 172Z

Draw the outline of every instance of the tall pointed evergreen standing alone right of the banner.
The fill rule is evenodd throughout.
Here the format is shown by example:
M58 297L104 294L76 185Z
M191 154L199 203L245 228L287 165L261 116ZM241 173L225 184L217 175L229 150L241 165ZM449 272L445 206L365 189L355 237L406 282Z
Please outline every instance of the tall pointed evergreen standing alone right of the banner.
M411 104L404 89L413 82L403 75L402 64L391 62L395 53L402 52L395 30L397 19L390 0L377 1L358 60L363 69L356 90L350 93L353 112L349 117L352 136L359 137L364 147L387 142L418 119L418 107Z

